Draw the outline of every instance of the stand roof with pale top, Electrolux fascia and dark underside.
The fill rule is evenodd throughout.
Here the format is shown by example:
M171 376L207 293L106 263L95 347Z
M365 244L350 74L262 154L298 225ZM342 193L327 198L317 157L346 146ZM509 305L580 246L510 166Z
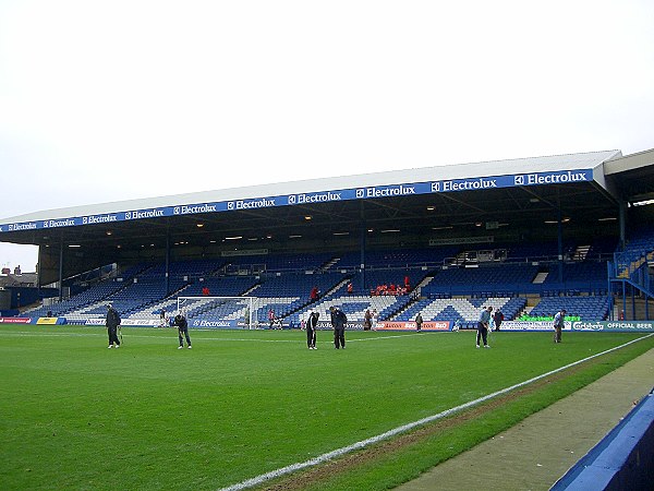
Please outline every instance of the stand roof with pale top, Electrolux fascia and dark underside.
M0 241L39 247L38 284L247 254L360 254L446 244L618 238L654 224L654 149L424 167L37 211ZM165 278L168 277L166 272Z

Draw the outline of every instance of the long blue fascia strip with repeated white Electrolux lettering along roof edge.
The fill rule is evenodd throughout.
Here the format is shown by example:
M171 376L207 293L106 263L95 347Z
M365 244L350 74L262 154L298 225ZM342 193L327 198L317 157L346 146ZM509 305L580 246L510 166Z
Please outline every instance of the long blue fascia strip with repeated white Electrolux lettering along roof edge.
M473 179L452 179L433 182L415 182L407 184L374 185L312 193L289 194L281 196L263 196L216 203L196 203L161 208L131 209L128 212L89 215L83 217L58 218L19 224L0 224L0 232L35 230L80 225L109 224L112 221L160 218L177 215L197 215L203 213L232 212L241 209L270 208L314 203L329 203L350 200L377 200L393 196L412 196L417 194L450 193L459 191L483 191L499 188L529 185L569 184L590 182L592 169L567 170L558 172L520 173L511 176L488 176Z

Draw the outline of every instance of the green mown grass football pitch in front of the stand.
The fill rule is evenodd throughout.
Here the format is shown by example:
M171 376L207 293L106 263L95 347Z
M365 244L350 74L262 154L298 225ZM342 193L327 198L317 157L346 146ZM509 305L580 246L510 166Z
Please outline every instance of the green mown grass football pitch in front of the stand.
M298 331L191 330L177 349L174 330L122 332L107 349L100 327L0 326L2 489L389 489L654 347L644 333L502 332L475 349L472 332L347 332L335 350L318 332L308 350Z

